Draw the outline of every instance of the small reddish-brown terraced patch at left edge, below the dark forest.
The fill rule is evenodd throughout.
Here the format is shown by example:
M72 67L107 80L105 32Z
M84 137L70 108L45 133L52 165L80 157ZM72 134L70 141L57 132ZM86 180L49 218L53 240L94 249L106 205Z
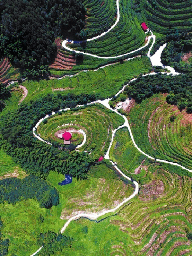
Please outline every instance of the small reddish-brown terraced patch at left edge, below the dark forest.
M8 84L12 80L17 80L19 69L12 67L8 58L0 59L0 83Z

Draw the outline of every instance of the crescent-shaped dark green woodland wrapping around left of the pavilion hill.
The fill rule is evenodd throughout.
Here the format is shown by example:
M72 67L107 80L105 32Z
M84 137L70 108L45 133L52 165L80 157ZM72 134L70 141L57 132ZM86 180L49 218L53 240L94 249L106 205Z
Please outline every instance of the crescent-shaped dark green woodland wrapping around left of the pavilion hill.
M91 163L95 162L86 152L70 152L54 144L47 145L37 140L32 133L38 120L47 113L60 108L74 108L78 104L94 101L95 95L79 96L50 95L30 104L21 104L13 113L0 120L0 145L11 155L27 173L40 178L46 177L50 170L69 173L73 177L85 179ZM71 109L73 111L73 109ZM59 114L59 113L58 113Z

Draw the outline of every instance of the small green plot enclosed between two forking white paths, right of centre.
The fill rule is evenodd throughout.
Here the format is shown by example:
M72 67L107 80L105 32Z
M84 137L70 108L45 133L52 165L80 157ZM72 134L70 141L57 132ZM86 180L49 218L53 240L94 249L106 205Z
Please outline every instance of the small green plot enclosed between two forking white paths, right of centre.
M128 175L141 165L145 156L133 145L129 131L122 128L116 131L113 145L110 150L110 159L117 162L117 166Z

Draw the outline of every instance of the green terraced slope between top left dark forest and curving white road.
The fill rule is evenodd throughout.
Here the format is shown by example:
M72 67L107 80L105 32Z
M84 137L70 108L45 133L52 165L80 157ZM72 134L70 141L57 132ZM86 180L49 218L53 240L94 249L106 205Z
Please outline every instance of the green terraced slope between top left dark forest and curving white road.
M115 23L115 0L85 0L84 5L87 9L85 30L88 38L103 33Z

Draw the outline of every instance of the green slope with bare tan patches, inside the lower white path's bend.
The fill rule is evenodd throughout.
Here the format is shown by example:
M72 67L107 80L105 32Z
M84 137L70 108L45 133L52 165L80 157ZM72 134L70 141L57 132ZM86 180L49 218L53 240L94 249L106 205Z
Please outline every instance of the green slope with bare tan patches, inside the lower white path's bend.
M59 179L60 178L60 179ZM109 210L129 197L134 186L126 184L105 164L92 166L88 178L80 182L73 178L71 184L59 186L61 174L50 172L47 180L59 190L62 204L61 219L66 220L77 212L96 213Z

